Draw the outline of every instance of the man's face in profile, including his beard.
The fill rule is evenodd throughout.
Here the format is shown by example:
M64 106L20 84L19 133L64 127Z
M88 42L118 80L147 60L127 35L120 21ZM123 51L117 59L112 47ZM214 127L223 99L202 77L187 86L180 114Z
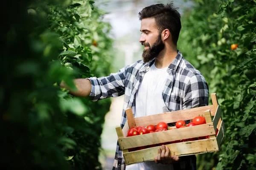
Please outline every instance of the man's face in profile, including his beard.
M164 43L154 18L145 18L141 21L140 31L142 32L140 42L145 46L142 58L144 62L154 59L164 49Z

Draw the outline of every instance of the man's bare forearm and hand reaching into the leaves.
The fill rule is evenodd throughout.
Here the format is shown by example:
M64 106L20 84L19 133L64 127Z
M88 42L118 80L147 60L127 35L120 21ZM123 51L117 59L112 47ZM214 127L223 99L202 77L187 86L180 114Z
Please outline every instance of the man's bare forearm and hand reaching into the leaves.
M64 83L64 81L61 82L60 86L61 88L66 88L69 90L69 93L73 96L87 97L90 95L92 87L89 79L74 79L74 83L77 88L76 91L71 91L70 88Z

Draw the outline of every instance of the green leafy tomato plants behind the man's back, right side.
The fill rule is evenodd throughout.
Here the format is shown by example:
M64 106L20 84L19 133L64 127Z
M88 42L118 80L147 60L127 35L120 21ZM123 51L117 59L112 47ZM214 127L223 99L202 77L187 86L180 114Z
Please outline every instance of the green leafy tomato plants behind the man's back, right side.
M227 130L220 152L197 156L198 170L255 170L256 1L192 1L178 49L217 94Z

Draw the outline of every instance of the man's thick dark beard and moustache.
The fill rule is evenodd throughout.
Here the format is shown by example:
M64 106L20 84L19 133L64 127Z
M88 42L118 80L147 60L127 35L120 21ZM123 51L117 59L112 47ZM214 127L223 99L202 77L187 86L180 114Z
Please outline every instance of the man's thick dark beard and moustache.
M143 42L141 44L149 47L147 50L143 51L143 54L142 54L143 62L149 62L150 60L157 57L158 54L163 50L165 46L161 39L161 34L159 34L159 36L157 37L157 40L154 42L152 47L149 46L149 43Z

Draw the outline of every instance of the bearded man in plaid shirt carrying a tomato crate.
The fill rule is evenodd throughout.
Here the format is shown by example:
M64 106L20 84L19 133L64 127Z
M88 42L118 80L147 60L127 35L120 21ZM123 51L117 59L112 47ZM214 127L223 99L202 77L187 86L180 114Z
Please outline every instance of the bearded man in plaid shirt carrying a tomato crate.
M76 96L91 96L93 101L125 94L121 127L127 121L125 109L131 107L135 117L208 105L208 85L177 50L180 14L171 4L143 8L140 42L145 46L143 60L122 68L108 77L76 79ZM61 83L61 87L66 87ZM193 156L171 156L162 145L154 161L125 166L117 142L113 170L194 170Z

